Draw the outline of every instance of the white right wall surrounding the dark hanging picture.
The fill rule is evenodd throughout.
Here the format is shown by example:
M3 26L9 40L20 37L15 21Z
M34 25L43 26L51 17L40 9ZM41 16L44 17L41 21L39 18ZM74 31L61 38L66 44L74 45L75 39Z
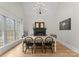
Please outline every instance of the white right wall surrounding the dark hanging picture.
M71 30L59 30L59 22L71 18ZM58 39L67 47L79 52L79 3L59 3L57 17Z

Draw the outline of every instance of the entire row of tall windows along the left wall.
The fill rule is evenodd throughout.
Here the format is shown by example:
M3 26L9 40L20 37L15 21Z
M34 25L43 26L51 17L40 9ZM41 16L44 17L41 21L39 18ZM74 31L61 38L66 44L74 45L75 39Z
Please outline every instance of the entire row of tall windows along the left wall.
M23 21L0 15L0 47L20 39L23 35Z

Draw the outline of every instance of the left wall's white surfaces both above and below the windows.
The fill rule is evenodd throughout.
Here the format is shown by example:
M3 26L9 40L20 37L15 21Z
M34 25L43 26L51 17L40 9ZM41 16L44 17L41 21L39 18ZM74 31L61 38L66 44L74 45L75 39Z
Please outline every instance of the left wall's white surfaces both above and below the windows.
M24 12L21 3L17 2L0 2L0 15L5 15L12 19L22 19L24 20ZM21 43L21 39L11 42L5 46L0 47L0 55L5 53L7 50L15 47L17 44Z

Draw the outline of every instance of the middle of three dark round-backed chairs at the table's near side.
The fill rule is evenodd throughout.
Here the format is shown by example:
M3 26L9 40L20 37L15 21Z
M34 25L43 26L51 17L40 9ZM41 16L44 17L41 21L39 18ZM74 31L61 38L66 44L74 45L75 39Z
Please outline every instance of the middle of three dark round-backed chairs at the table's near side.
M34 40L35 43L35 53L37 49L41 49L43 53L43 38L42 37L36 37Z

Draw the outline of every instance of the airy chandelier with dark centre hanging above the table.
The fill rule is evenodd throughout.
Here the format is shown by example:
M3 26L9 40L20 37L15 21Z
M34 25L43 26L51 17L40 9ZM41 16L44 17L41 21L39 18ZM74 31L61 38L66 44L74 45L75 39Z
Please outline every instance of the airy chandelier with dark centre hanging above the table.
M38 2L35 4L35 6L33 7L34 12L38 15L47 13L47 8L46 5L42 2Z

